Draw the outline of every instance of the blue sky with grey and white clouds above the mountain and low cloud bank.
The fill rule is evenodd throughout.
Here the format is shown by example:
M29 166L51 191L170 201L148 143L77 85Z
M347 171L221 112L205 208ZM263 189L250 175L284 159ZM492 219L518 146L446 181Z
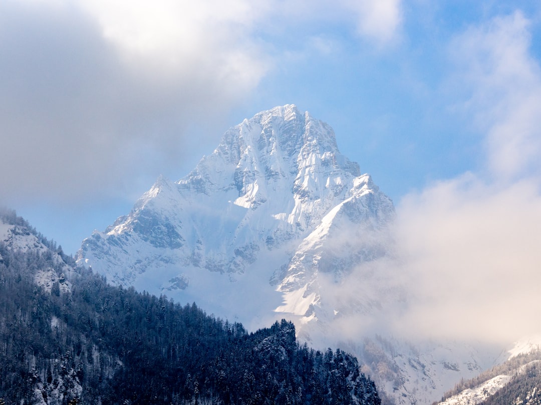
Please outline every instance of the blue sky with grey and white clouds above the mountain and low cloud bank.
M0 1L0 201L67 252L275 105L329 123L397 206L492 184L497 99L541 80L536 1L200 3ZM532 131L517 153L539 152Z

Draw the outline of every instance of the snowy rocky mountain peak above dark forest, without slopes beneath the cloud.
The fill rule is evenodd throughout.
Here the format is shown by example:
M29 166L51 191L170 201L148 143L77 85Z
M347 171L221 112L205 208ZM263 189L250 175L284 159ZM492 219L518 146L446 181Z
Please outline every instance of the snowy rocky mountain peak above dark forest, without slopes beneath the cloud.
M386 252L390 198L294 105L230 128L186 177L157 179L77 254L109 282L196 301L217 315L314 319L336 281ZM259 326L259 325L254 325Z

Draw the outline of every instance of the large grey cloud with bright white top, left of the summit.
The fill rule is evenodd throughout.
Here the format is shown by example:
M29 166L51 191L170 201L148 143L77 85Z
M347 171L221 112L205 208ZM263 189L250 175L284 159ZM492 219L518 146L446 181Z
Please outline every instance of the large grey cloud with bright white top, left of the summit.
M3 203L126 193L219 136L267 71L248 5L0 3Z

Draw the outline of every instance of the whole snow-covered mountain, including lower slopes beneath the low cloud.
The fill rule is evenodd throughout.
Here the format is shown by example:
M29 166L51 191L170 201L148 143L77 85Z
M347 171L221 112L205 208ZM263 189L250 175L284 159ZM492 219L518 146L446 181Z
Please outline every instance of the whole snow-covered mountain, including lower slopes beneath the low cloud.
M258 328L358 355L384 403L431 403L495 356L464 342L411 343L379 329L406 305L390 198L340 153L332 128L294 105L230 128L175 182L160 177L77 253L114 285L196 302Z

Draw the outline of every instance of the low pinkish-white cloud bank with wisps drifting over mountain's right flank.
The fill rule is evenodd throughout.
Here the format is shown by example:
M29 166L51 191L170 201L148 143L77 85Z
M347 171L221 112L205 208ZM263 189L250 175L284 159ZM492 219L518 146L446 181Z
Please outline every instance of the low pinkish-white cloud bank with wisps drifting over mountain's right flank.
M536 178L487 185L471 173L398 206L393 254L337 282L320 274L345 341L380 334L411 342L505 347L541 334L541 193Z

